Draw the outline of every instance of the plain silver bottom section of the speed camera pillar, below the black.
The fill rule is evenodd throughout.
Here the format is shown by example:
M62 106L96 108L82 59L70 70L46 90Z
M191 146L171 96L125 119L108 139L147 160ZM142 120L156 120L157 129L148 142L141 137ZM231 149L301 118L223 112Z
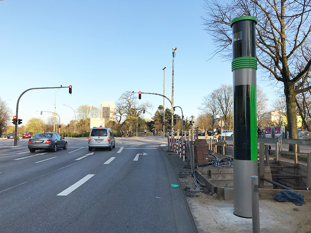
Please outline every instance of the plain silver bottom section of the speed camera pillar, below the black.
M251 176L258 176L258 162L233 160L234 215L252 218Z

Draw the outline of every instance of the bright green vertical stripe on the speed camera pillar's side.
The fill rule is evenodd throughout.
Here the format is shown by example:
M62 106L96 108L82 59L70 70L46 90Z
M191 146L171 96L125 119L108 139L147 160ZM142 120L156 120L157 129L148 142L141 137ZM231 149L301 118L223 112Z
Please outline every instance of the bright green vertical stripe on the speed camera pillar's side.
M257 87L250 85L251 160L257 160Z

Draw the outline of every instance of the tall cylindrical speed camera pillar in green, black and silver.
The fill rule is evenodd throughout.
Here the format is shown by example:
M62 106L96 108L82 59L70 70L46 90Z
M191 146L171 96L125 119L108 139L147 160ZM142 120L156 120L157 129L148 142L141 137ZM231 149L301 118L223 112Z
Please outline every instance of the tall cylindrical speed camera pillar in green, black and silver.
M253 16L231 21L233 72L234 215L252 217L251 176L257 168L256 23Z

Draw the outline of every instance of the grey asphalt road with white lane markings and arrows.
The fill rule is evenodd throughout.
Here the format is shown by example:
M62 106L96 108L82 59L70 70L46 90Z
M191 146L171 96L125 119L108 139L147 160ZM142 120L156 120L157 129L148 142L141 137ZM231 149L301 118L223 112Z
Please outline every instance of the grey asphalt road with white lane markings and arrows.
M117 138L116 148L30 153L0 140L0 232L193 232L158 138Z

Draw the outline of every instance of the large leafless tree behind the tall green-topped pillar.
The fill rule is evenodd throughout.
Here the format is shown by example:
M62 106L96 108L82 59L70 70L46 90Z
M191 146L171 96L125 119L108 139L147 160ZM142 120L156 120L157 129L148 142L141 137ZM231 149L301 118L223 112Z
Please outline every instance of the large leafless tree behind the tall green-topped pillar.
M298 139L296 95L311 89L304 87L311 67L310 3L311 0L205 0L207 18L202 18L217 46L214 55L227 60L232 55L231 20L243 15L258 19L257 61L267 78L283 83L289 136L293 139Z

